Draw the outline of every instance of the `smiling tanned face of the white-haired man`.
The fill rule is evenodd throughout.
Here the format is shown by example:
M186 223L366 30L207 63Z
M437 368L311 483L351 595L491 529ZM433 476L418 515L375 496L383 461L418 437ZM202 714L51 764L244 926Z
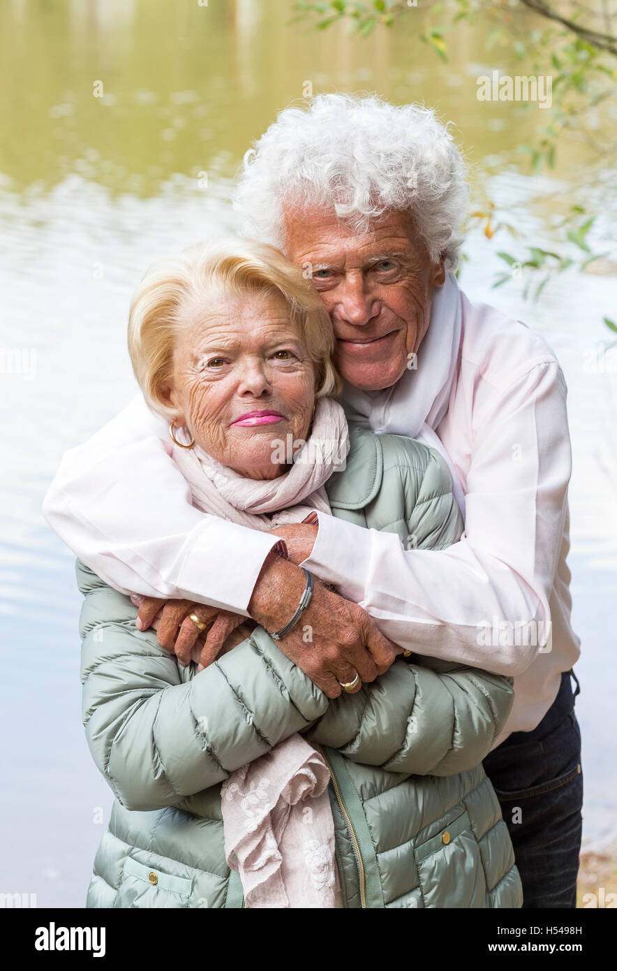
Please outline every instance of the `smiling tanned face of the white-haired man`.
M354 235L329 209L285 209L289 259L311 274L334 324L335 364L350 385L396 384L431 319L433 287L445 280L406 213L389 213Z

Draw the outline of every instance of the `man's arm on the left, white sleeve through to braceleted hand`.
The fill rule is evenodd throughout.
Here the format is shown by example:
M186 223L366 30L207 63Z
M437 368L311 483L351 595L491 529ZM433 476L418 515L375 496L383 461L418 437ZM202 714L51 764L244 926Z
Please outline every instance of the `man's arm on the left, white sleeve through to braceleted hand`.
M280 629L298 607L304 573L275 555L276 535L194 509L166 435L165 421L134 400L66 453L46 496L46 519L120 593L195 601ZM320 585L286 650L330 697L356 671L371 681L395 658L364 611ZM189 655L190 646L186 662Z

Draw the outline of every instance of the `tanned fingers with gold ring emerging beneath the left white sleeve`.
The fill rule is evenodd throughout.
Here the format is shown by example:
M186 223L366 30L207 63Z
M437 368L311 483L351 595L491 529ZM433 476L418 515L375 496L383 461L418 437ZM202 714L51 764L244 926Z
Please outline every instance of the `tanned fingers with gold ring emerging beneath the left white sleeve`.
M132 596L131 600L139 606L135 622L138 630L146 630L148 627L156 630L158 643L168 651L176 653L179 664L183 667L190 660L198 659L202 668L208 667L216 660L232 631L246 621L240 614L221 611L218 607L208 607L206 604L196 604L191 600L161 600L137 595ZM190 618L191 614L210 629L202 630L198 627Z

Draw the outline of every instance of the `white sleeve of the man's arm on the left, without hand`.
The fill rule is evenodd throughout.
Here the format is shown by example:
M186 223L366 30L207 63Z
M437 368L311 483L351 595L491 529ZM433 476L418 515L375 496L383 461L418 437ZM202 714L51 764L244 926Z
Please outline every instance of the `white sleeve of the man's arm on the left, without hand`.
M276 536L195 509L171 453L165 420L139 395L66 452L44 515L120 593L187 599L248 616Z

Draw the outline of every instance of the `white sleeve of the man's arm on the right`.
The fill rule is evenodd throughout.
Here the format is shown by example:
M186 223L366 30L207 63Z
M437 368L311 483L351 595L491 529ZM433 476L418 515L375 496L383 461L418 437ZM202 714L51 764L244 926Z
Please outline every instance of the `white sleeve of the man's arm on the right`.
M314 547L300 562L364 607L395 643L513 676L546 651L538 621L550 621L563 539L571 456L559 366L536 365L474 422L459 543L406 550L396 535L319 514ZM421 502L415 516L419 531ZM520 623L522 636L487 647L480 625L494 618Z

